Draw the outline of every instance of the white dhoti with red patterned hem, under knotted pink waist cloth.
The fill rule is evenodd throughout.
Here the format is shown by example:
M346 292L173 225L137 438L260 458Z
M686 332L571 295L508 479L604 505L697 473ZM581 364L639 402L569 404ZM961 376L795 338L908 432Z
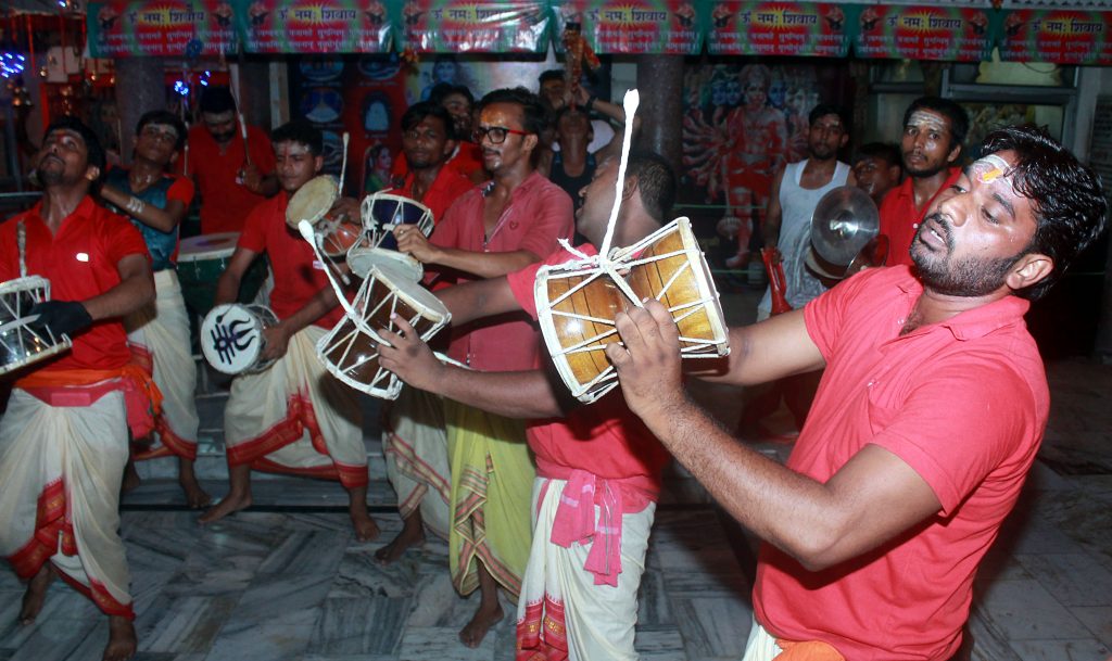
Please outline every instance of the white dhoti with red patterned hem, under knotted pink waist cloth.
M517 602L517 659L635 661L637 589L656 503L622 515L620 573L614 585L596 584L596 573L586 569L590 544L573 542L565 548L552 541L567 484L539 477L534 483L533 547ZM614 530L602 507L594 505L594 517L595 530ZM600 534L592 541L605 543Z

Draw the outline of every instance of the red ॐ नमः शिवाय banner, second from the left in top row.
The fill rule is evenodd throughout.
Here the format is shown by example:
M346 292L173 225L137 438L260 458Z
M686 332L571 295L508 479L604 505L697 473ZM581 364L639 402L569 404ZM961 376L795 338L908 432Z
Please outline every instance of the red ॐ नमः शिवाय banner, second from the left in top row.
M236 13L248 52L379 53L391 50L386 7L377 0L241 0Z

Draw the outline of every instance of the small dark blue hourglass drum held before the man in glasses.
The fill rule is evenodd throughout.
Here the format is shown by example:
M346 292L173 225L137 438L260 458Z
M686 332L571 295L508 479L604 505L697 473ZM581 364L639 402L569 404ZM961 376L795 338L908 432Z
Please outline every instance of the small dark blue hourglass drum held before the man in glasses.
M363 199L363 203L359 204L359 216L363 221L363 236L348 251L347 257L351 272L366 278L370 267L383 264L408 273L415 282L420 280L425 274L424 268L413 257L398 252L394 229L410 224L428 237L433 233L434 227L433 212L429 208L409 198L373 193Z

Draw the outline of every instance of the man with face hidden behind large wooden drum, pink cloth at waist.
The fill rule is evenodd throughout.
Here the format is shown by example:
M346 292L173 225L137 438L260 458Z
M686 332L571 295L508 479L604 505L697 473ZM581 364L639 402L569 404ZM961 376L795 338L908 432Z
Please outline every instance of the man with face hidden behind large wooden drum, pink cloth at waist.
M579 247L588 254L603 242L617 177L618 160L607 159L584 189L576 229L592 242ZM635 244L657 230L668 218L675 191L675 177L664 159L634 153L626 169L614 246ZM545 263L575 259L558 250ZM536 318L533 283L540 266L437 296L451 311L453 323L522 310ZM637 588L667 452L617 392L589 407L577 405L563 385L554 390L553 377L535 369L536 363L530 371L468 371L440 364L408 329L404 338L389 334L387 339L395 348L381 348L381 364L415 388L529 420L526 433L538 475L533 485L533 547L517 607L518 650L540 659L564 658L562 653L578 661L636 659ZM560 504L562 499L582 499L592 507L586 529L568 534L576 520L583 521L583 510ZM616 514L620 515L610 518ZM620 521L620 532L607 534L605 527L613 523L602 521ZM592 534L594 543L579 544Z

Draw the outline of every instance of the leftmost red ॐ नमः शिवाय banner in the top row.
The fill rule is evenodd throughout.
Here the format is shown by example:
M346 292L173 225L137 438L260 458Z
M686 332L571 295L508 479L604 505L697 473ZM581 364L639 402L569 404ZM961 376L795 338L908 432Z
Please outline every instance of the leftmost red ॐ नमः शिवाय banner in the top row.
M224 0L115 0L90 2L89 50L96 58L196 58L239 47L237 9Z

